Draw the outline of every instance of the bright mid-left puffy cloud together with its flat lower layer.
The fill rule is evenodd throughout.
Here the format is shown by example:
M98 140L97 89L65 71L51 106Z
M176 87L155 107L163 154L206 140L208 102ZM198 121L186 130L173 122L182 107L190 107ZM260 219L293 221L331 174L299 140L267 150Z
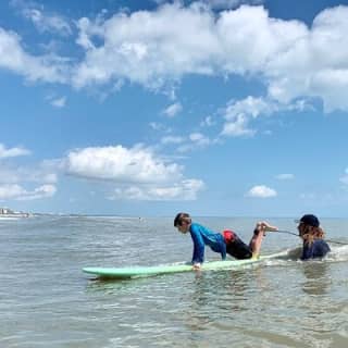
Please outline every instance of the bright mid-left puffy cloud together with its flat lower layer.
M200 179L185 178L182 165L141 146L74 150L65 159L65 170L70 175L112 181L117 188L110 199L194 200L204 187Z

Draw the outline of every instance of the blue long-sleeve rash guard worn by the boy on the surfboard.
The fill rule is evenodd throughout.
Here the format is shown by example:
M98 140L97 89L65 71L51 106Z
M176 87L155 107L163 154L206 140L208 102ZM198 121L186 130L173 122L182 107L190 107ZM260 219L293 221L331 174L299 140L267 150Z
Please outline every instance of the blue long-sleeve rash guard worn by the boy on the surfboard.
M192 263L204 261L204 246L209 246L213 251L220 252L223 260L226 259L226 244L220 233L214 233L204 226L192 223L189 233L194 241Z

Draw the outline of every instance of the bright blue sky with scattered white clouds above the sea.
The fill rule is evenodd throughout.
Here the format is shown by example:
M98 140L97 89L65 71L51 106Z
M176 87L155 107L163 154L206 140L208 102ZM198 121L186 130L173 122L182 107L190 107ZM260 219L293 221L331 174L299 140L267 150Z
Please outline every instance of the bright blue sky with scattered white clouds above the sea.
M0 207L348 216L348 0L0 2Z

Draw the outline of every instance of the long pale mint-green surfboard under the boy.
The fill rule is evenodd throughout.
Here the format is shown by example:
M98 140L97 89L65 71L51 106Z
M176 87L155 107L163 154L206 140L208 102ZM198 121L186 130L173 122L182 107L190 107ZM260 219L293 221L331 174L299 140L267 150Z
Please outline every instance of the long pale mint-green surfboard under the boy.
M240 269L245 265L262 262L278 257L282 253L261 256L257 259L247 260L225 260L204 262L201 271L233 270ZM129 268L84 268L83 272L94 274L100 278L137 278L170 273L192 272L191 264L163 264L153 266L129 266Z

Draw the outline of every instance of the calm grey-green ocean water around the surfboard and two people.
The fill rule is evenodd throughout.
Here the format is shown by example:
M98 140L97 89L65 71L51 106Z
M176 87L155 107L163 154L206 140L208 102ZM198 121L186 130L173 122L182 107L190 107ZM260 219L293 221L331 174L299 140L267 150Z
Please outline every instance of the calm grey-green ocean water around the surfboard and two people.
M249 241L257 219L196 221ZM293 219L268 221L296 232ZM322 226L348 244L348 220ZM105 282L82 269L186 262L189 235L172 217L51 215L0 220L0 238L1 348L348 346L348 246L301 262L299 238L270 233L262 252L288 258ZM206 248L207 260L219 258Z

